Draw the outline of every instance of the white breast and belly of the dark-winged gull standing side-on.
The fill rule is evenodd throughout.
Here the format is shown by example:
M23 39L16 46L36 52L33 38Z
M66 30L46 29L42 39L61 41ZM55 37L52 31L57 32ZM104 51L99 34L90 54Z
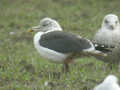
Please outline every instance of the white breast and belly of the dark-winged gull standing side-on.
M37 51L40 53L40 56L52 62L63 63L68 55L61 54L53 50L50 50L48 48L40 46L39 40L42 34L43 32L38 32L34 37L34 46L37 49Z

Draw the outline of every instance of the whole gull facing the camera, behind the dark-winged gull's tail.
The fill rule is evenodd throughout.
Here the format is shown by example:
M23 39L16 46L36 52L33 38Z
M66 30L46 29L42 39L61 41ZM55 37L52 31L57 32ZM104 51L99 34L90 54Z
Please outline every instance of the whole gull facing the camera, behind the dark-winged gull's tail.
M118 16L115 14L106 15L93 40L96 50L99 49L107 53L105 57L95 57L109 63L110 66L117 64L120 71L120 23Z

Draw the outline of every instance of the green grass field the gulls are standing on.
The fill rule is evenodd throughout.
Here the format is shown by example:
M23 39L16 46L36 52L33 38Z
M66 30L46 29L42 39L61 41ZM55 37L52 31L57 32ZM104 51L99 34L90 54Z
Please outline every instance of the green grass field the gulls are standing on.
M115 67L110 70L93 57L75 60L70 64L70 73L64 74L62 65L40 57L33 46L35 33L27 32L40 19L51 17L65 31L92 39L106 14L120 16L119 3L120 0L1 0L0 90L90 90L108 74L120 78ZM44 85L46 81L48 86Z

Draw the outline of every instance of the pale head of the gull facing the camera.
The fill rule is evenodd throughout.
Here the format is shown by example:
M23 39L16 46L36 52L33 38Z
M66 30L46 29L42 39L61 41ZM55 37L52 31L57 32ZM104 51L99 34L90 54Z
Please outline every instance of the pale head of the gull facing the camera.
M119 18L115 14L108 14L104 17L102 28L116 30L119 27Z

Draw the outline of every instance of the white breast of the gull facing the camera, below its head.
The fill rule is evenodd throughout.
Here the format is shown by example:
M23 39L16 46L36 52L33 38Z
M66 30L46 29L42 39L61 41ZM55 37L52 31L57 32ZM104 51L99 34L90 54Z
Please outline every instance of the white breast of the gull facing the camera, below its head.
M94 40L99 44L115 46L120 41L120 31L99 30L98 33L96 33Z

